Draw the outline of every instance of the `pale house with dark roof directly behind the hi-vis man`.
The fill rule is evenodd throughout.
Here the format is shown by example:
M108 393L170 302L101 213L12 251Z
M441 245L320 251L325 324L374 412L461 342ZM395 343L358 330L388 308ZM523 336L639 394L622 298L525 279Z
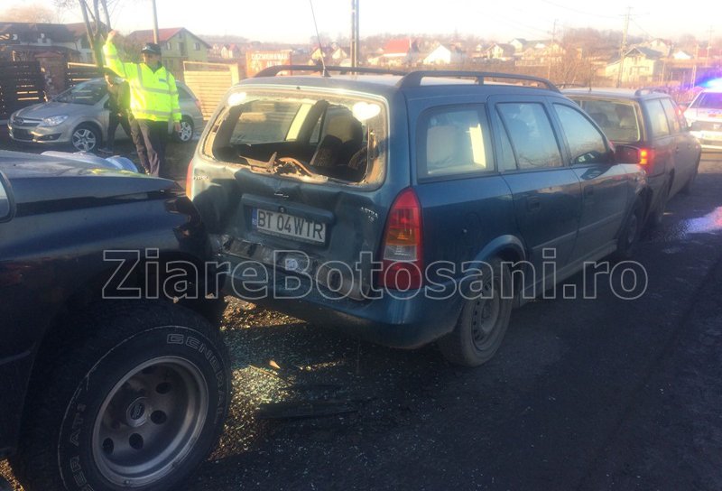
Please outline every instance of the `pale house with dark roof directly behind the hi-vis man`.
M128 34L128 40L143 45L153 42L153 30L134 31ZM185 27L170 27L158 30L158 43L161 45L163 64L177 79L183 77L183 61L208 61L208 42L203 41Z

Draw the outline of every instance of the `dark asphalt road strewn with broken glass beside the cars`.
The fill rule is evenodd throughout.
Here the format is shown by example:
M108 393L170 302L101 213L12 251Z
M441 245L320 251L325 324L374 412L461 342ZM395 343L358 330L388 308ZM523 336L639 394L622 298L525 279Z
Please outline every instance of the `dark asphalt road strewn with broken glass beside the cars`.
M232 303L235 402L183 491L722 489L721 191L717 154L637 249L639 299L533 301L477 369Z

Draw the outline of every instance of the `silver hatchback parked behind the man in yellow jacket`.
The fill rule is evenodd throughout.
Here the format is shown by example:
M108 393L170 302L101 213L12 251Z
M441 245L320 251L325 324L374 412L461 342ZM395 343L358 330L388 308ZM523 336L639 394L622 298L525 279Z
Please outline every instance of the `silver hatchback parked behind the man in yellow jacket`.
M190 88L177 82L180 103L180 142L189 142L203 129L200 103ZM50 102L15 111L7 123L10 137L27 144L71 144L80 152L95 151L106 139L108 100L105 79L90 79L53 97ZM116 140L127 138L118 126Z

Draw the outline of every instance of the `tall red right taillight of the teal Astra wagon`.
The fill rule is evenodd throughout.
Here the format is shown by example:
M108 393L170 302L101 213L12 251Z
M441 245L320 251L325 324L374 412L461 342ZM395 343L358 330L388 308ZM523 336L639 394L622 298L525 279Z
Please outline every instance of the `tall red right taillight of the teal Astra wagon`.
M413 290L423 284L421 206L412 189L393 201L384 231L384 269L379 285L393 290Z

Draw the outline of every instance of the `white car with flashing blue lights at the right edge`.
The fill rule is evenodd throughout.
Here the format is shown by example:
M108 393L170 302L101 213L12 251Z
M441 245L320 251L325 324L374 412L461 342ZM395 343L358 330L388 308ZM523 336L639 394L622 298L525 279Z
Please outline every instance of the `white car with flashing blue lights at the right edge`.
M722 87L699 92L684 117L703 149L722 150Z

